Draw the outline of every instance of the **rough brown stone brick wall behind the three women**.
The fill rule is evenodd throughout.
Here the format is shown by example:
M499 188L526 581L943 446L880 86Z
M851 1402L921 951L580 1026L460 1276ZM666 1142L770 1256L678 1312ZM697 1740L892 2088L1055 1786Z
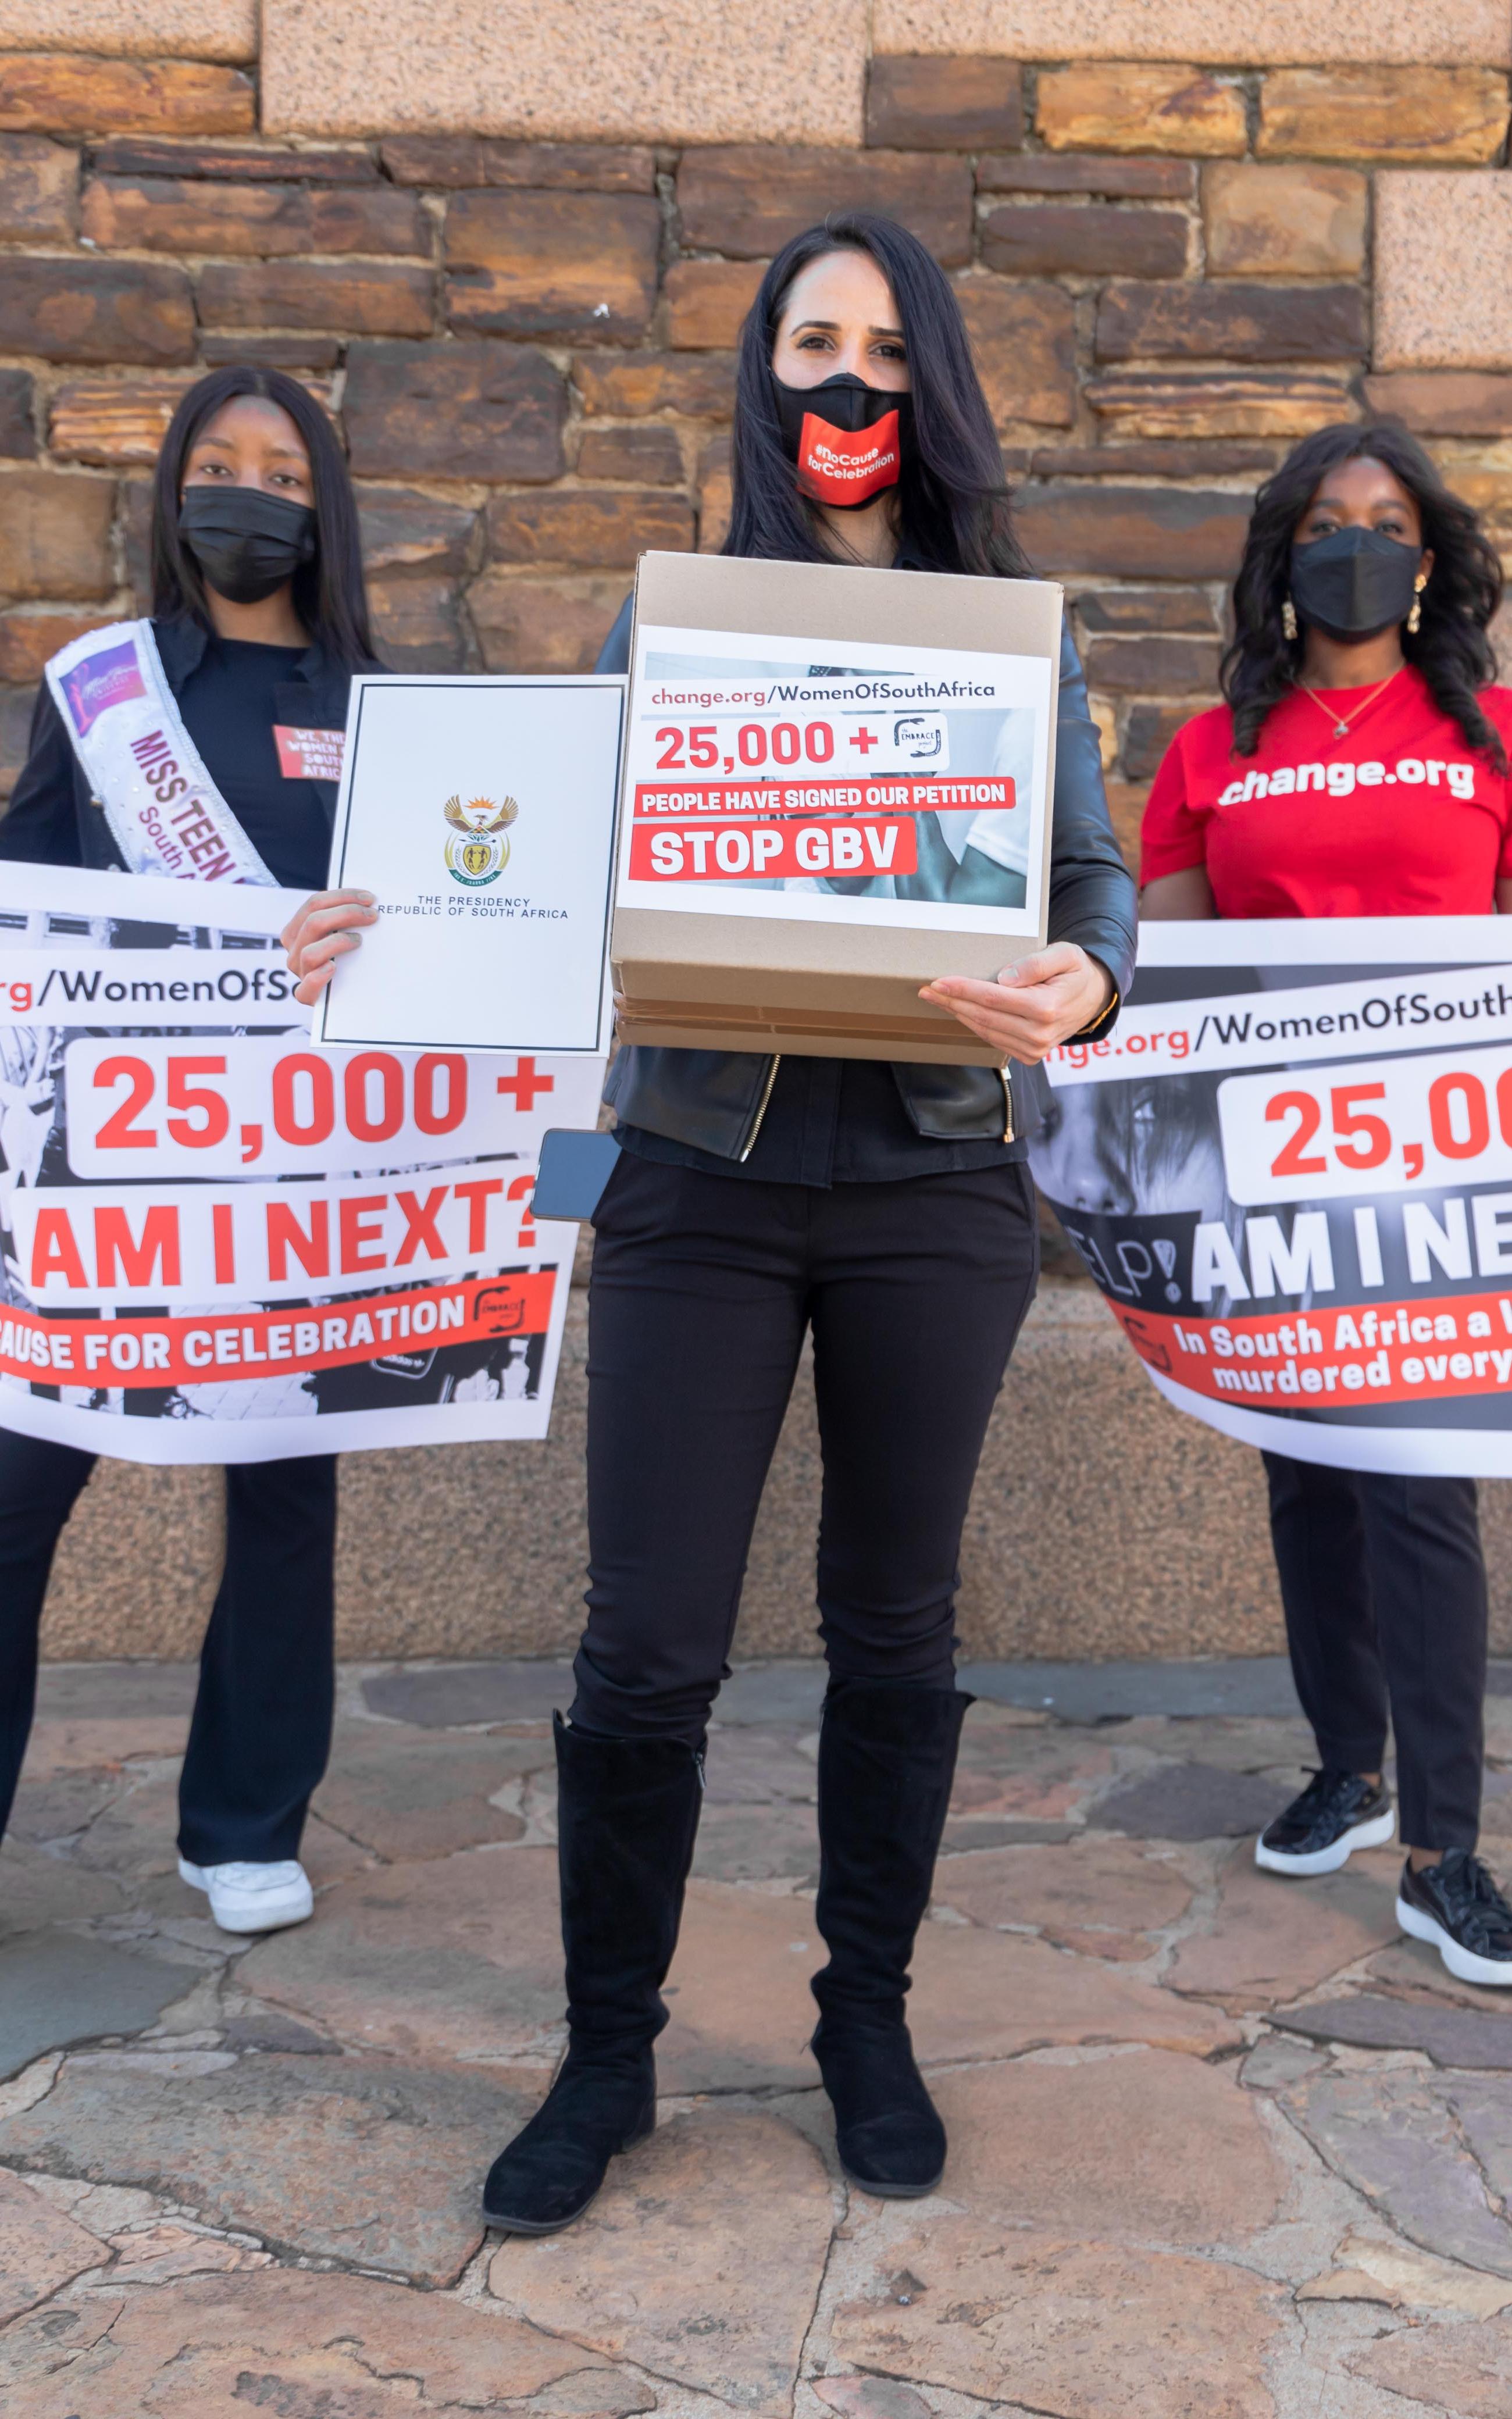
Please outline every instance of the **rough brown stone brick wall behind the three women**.
M1043 24L1038 60L1004 15ZM847 0L808 77L786 0L760 29L639 0L423 17L266 0L259 58L230 0L0 0L5 786L41 660L143 602L145 469L223 360L290 368L339 418L394 665L590 663L644 547L719 544L740 314L849 201L958 283L1125 835L1212 699L1289 438L1401 411L1512 530L1500 5L1328 0L1352 63L1323 65L1227 0L883 0L866 58ZM501 24L535 44L530 97ZM699 24L728 41L694 87ZM1161 24L1188 63L1152 56Z

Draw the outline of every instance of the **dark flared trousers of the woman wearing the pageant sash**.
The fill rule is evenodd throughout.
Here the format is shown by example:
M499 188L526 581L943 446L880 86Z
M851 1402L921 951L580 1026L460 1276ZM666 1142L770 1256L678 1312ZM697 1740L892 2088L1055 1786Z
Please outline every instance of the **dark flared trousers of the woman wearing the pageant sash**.
M0 1430L0 1831L36 1705L36 1633L94 1454ZM298 1855L331 1751L336 1456L225 1473L225 1572L179 1778L194 1865ZM143 1572L143 1589L152 1572Z

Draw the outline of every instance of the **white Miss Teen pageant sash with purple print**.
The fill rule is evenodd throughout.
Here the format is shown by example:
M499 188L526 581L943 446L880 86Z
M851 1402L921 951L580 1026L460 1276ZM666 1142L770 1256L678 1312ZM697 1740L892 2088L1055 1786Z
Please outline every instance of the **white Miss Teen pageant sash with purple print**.
M276 888L184 728L150 622L92 629L46 680L128 873Z

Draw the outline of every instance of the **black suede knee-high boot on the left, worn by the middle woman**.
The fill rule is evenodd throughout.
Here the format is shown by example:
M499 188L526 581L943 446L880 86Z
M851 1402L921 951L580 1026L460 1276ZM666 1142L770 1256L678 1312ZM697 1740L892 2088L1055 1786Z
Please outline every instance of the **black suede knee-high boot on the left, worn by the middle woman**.
M489 2167L484 2218L554 2235L617 2150L656 2126L651 2044L692 1865L702 1759L682 1739L600 1739L556 1717L569 2046L523 2134Z

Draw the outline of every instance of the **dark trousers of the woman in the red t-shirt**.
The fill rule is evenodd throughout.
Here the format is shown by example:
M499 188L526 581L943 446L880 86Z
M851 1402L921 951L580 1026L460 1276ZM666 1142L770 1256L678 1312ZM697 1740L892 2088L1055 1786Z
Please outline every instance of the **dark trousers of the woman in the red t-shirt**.
M1396 1732L1401 1836L1473 1848L1485 1727L1485 1560L1473 1478L1265 1454L1297 1696L1318 1759L1377 1773Z

